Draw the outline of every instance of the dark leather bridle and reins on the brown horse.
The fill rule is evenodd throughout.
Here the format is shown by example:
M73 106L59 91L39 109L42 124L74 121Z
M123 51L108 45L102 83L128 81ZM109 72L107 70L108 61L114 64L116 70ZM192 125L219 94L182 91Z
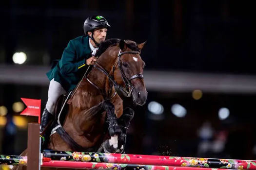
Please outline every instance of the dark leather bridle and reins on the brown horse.
M93 65L95 68L97 68L98 70L100 70L101 72L103 72L104 74L106 74L109 78L109 80L115 85L118 87L118 89L126 96L126 97L130 97L131 94L132 94L132 91L134 89L134 86L132 85L131 83L131 80L133 79L137 79L137 78L140 78L142 79L143 78L143 73L138 73L138 74L135 74L133 76L131 76L130 78L127 78L124 71L123 71L123 68L122 68L122 62L120 60L120 57L123 55L123 54L140 54L139 51L123 51L121 52L121 50L119 50L119 53L118 53L118 57L117 57L117 60L115 62L115 64L113 65L113 75L110 75L110 73L108 73L108 71L103 68L97 61L96 61L96 64ZM121 71L121 76L122 76L122 80L125 84L125 87L123 87L122 85L119 85L116 81L115 81L115 78L114 78L114 71L116 69L116 66L118 65L118 68L120 69ZM95 85L94 83L92 83L88 78L87 78L88 82L91 83L92 85L96 86L98 88L97 85ZM99 89L99 88L98 88Z

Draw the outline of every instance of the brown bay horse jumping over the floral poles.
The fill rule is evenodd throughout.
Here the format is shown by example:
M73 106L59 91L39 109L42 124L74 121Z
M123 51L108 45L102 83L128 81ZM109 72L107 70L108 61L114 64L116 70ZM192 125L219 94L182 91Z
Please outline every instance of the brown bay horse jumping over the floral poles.
M136 105L145 104L145 63L140 57L145 43L117 38L101 43L96 53L97 62L73 90L72 97L62 96L59 100L59 103L69 100L69 104L62 109L61 114L66 113L63 120L56 119L58 123L53 126L48 149L100 152L103 148L105 153L123 152L134 111L129 107L123 109L116 89L125 97L132 96ZM21 155L27 155L27 151ZM13 170L26 170L26 167L14 166Z

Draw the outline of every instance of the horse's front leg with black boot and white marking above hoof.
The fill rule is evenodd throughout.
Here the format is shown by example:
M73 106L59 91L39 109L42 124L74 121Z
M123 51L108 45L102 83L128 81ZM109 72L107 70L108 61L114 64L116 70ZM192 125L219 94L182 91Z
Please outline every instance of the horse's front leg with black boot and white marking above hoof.
M115 106L111 102L104 102L103 108L106 111L108 131L110 139L104 142L104 151L106 153L115 153L118 149L118 136L121 134L121 128L118 125L117 115L115 114Z

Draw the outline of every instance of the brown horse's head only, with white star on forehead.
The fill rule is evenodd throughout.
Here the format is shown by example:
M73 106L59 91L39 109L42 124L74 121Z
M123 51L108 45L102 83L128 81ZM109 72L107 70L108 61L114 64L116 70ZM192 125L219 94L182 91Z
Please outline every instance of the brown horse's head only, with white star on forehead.
M126 96L132 95L133 101L143 105L147 99L147 90L144 83L144 61L140 52L146 42L138 44L131 40L120 40L116 62L114 64L114 78L121 86L120 91Z

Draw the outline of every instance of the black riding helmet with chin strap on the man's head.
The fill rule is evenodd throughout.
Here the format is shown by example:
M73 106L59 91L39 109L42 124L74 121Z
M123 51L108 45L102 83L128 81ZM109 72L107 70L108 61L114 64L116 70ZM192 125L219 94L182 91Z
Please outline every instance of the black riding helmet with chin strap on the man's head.
M95 29L101 29L101 28L110 28L110 25L108 24L108 21L102 17L102 16L91 16L88 17L83 24L83 31L84 34L88 35L88 31L92 32L92 40L94 43L99 46L99 44L95 41L93 37L93 31Z

